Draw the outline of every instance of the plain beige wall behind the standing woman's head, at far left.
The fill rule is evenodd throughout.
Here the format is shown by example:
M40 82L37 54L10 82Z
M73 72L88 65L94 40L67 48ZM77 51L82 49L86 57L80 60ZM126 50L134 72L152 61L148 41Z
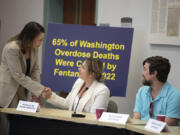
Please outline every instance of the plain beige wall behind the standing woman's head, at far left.
M0 54L7 40L18 34L27 22L43 24L43 5L43 0L0 0ZM41 55L42 51L39 53L40 65Z

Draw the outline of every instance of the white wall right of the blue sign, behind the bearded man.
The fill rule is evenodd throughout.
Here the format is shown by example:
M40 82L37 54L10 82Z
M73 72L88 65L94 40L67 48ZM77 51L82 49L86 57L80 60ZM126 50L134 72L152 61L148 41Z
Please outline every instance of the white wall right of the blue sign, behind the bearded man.
M120 113L132 114L135 94L141 86L142 61L152 55L167 57L172 65L168 81L180 89L180 46L150 45L148 43L149 5L146 0L99 0L97 23L119 27L121 17L132 17L134 39L128 76L127 97L113 97Z

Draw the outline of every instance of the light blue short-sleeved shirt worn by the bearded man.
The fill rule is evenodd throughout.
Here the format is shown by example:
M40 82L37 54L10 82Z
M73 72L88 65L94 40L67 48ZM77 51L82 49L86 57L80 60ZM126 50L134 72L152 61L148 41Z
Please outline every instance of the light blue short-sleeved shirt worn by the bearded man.
M134 112L141 115L142 120L149 120L149 106L153 102L153 119L156 119L157 114L165 115L169 118L180 119L180 90L166 82L158 94L152 100L151 87L143 86L136 94L136 104Z

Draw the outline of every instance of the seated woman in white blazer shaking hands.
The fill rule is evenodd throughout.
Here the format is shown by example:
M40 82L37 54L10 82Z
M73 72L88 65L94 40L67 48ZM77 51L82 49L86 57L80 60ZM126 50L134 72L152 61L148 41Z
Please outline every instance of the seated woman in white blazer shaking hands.
M62 98L53 92L47 101L57 107L77 112L95 113L96 108L104 108L106 111L110 91L103 83L102 73L103 63L88 58L79 68L79 78L68 96Z

